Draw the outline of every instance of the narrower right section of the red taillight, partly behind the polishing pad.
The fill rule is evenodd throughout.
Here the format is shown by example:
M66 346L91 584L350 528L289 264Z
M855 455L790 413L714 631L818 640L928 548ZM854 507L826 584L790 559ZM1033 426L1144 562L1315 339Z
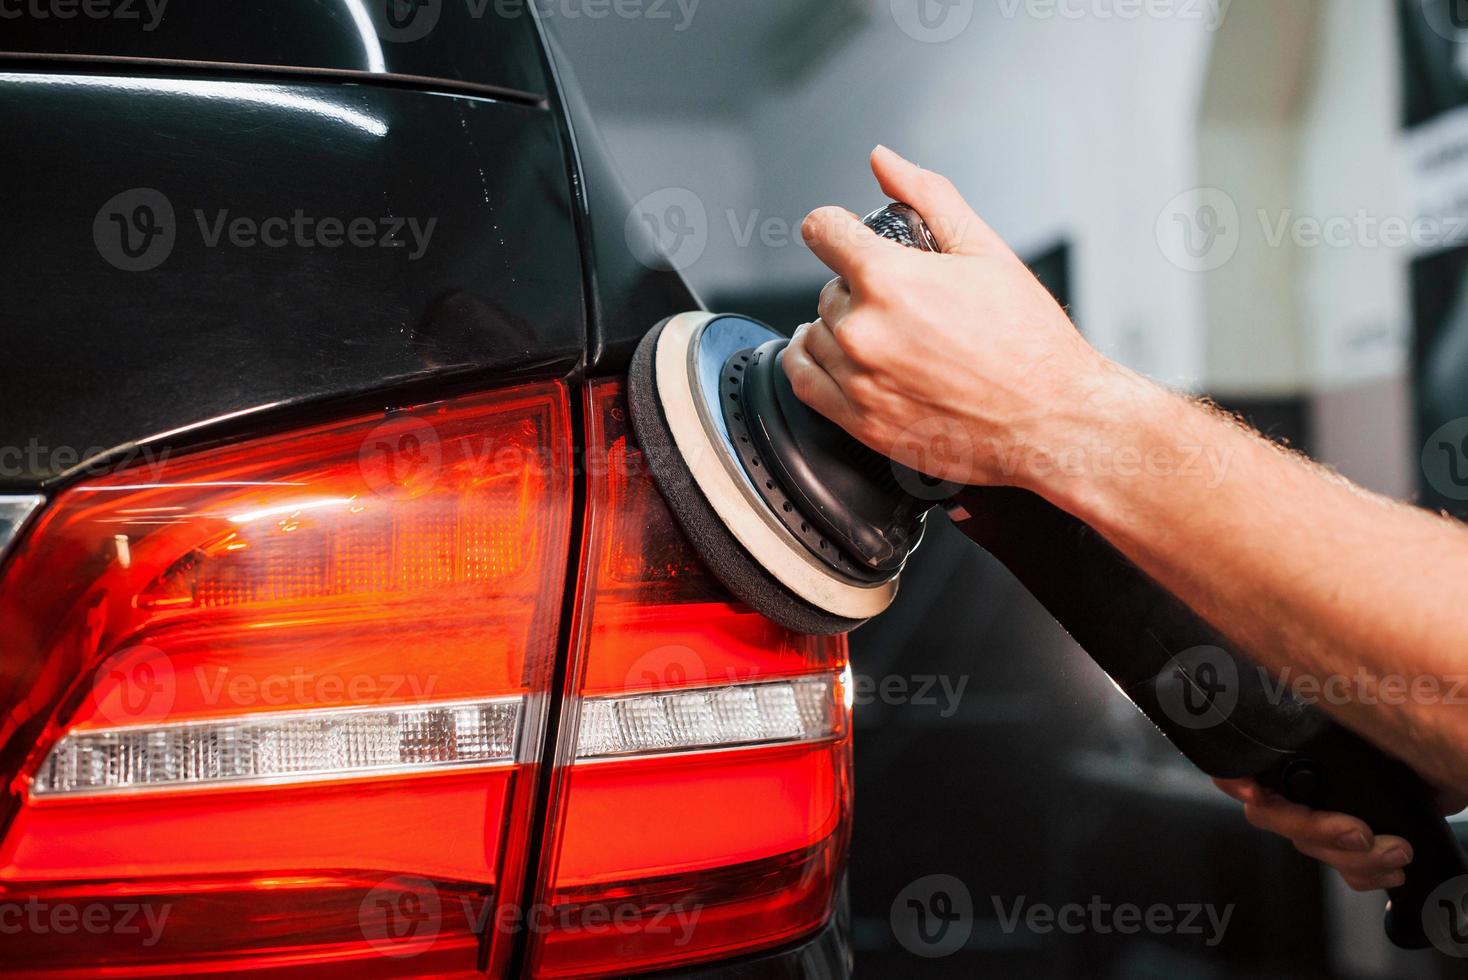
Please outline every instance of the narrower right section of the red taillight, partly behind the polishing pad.
M624 976L819 929L850 816L846 643L730 601L587 393L586 562L533 936L537 977Z

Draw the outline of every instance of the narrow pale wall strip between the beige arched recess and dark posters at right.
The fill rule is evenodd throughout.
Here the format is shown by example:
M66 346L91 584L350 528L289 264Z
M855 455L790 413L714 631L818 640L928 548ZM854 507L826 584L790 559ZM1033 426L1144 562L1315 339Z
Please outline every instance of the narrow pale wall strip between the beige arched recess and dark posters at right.
M1417 494L1409 266L1387 223L1415 217L1402 167L1398 32L1389 4L1326 0L1293 200L1356 230L1301 251L1298 312L1315 453L1358 483ZM1362 216L1365 220L1358 222Z

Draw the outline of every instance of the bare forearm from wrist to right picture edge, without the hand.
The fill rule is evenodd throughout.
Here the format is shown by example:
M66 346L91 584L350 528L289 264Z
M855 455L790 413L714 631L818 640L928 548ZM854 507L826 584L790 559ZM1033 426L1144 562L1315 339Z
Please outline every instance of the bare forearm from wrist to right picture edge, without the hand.
M1468 530L1107 367L1019 477L1277 678L1468 789Z

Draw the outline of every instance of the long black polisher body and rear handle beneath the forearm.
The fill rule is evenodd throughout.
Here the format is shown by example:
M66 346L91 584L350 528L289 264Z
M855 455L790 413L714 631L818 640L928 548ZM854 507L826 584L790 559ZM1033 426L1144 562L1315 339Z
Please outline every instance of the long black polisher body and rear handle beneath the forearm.
M1386 932L1398 946L1430 945L1424 911L1442 910L1424 902L1468 874L1468 861L1415 772L1295 700L1095 530L1042 497L969 487L948 512L1199 769L1255 778L1411 842L1406 883L1389 892Z

